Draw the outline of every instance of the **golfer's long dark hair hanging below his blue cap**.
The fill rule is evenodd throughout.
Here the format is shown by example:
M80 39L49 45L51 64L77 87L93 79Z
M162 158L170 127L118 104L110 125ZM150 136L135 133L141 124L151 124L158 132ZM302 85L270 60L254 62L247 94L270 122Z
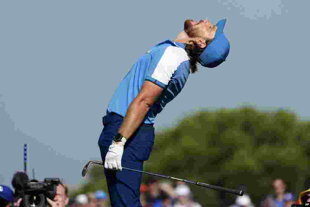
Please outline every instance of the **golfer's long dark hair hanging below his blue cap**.
M206 39L206 47L208 47L208 44L212 42L213 39ZM193 44L185 44L185 51L187 52L187 55L189 57L189 72L195 73L198 71L197 63L200 63L199 56L201 53L206 49L200 48L197 43L190 41Z

